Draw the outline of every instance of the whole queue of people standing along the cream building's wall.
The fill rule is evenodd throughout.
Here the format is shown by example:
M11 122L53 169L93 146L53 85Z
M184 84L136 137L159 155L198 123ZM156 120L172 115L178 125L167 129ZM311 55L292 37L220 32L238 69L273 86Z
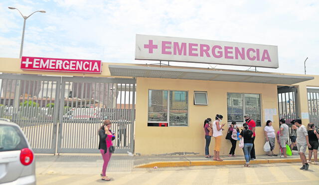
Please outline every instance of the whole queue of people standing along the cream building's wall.
M241 132L239 132L239 128L237 127L236 122L232 121L225 139L230 140L231 142L231 149L229 152L228 157L235 157L235 149L237 141L243 139L243 145L242 149L245 156L245 167L249 167L249 162L251 160L255 160L255 128L256 123L254 120L250 118L250 115L246 114L244 116L245 123L243 124L243 129ZM221 145L221 138L222 138L222 131L224 130L223 127L224 124L221 124L223 119L222 115L217 114L215 117L215 120L212 121L211 118L207 118L204 121L204 131L205 131L205 158L212 158L211 155L209 155L209 144L211 141L211 137L214 137L215 139L215 147L214 147L214 161L223 161L220 159L219 152L220 152L220 145ZM314 154L314 164L317 164L317 152L318 152L318 145L319 145L319 130L315 128L314 124L308 124L308 129L306 129L305 126L302 125L301 119L293 120L291 128L286 124L285 119L280 120L280 129L277 132L277 142L280 146L281 150L281 156L282 158L287 158L287 147L290 150L293 150L294 147L297 147L297 150L299 152L300 158L303 163L303 167L301 170L309 169L309 164L312 163L311 158L312 154ZM289 134L289 129L291 129L291 132ZM270 151L267 152L268 156L277 156L273 152L275 148L275 139L276 134L275 130L272 126L272 121L268 120L266 122L266 126L264 127L264 134L266 138L266 142L269 142L270 145ZM291 139L291 145L288 146L288 140ZM241 145L240 145L241 146ZM306 149L309 149L309 160L306 159L305 152Z

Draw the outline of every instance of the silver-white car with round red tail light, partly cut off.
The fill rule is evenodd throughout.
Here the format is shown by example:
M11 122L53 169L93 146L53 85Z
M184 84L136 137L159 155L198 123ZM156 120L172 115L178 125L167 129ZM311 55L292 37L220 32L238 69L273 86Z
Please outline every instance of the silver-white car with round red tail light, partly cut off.
M21 128L5 119L0 119L0 184L36 184L33 151Z

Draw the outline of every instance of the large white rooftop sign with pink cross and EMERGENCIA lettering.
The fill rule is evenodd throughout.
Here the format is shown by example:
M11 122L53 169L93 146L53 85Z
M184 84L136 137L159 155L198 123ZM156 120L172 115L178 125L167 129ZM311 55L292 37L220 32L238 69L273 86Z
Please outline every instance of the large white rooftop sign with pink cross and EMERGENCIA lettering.
M278 68L274 45L136 35L135 59Z

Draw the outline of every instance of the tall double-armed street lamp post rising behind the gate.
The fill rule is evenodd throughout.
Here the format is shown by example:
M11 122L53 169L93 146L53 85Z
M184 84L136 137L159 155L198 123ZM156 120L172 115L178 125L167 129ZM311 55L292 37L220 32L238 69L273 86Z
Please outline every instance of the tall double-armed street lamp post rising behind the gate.
M23 17L23 30L22 30L22 39L21 39L21 46L20 46L20 55L19 58L22 58L22 51L23 51L23 40L24 40L24 30L25 30L25 21L27 18L29 18L33 13L35 12L41 12L41 13L45 13L44 10L38 10L38 11L34 11L33 13L29 14L29 16L24 16L21 11L18 8L15 7L8 7L9 9L16 9L19 11L20 15ZM20 80L16 80L16 84L15 84L15 94L14 94L14 100L13 100L13 114L12 114L12 119L15 120L17 119L17 115L18 115L18 107L19 107L19 103L20 103Z

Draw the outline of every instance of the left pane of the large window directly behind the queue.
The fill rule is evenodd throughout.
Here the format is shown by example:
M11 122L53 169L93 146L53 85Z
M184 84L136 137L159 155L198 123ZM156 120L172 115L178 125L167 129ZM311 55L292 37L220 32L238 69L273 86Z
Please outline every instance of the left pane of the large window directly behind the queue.
M228 122L243 122L243 95L238 93L227 93L227 120Z

